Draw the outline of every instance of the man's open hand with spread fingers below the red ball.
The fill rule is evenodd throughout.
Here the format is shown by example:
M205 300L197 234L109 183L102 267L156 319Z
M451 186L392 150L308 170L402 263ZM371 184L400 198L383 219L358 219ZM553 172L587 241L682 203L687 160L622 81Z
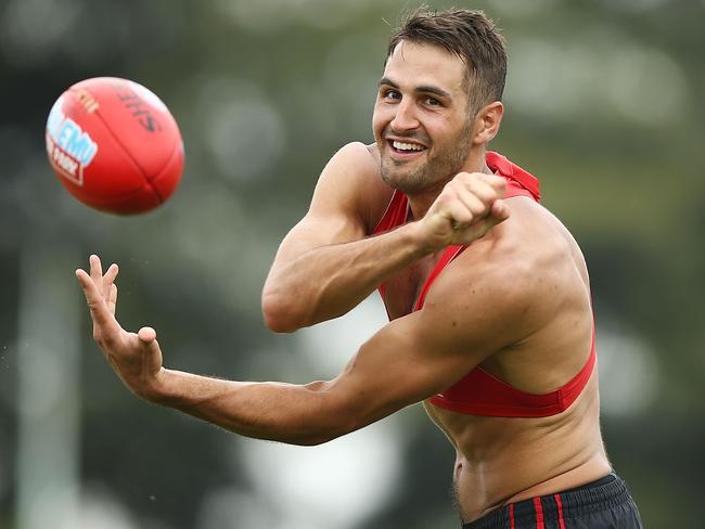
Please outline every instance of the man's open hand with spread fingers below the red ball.
M137 396L152 400L164 371L162 350L153 328L130 333L115 319L117 271L117 264L111 264L103 275L100 258L92 255L90 274L78 269L76 278L93 320L93 339L125 385Z

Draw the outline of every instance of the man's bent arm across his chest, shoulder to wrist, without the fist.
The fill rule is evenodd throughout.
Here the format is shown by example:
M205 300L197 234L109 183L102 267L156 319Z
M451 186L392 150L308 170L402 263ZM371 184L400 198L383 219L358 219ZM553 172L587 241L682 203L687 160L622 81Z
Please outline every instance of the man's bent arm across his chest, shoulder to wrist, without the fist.
M373 203L390 194L379 171L361 143L346 145L326 165L309 211L282 242L262 289L272 331L339 317L425 255L413 227L366 238L376 221Z

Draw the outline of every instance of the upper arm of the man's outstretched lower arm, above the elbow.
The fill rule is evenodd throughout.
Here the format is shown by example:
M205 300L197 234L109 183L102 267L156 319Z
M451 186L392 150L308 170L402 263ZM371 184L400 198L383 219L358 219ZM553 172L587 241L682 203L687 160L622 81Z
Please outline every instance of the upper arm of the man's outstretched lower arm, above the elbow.
M466 288L465 274L450 275L423 309L383 327L329 383L354 428L448 389L516 339L508 322L523 310L521 292L495 279Z

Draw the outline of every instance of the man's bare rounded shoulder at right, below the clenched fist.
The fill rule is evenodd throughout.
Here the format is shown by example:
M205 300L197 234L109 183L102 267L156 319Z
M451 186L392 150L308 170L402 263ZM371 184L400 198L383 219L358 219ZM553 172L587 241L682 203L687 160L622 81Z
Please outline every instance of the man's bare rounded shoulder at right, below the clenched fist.
M527 198L510 207L505 222L444 270L425 304L439 319L462 318L463 328L484 328L496 350L551 324L569 304L589 305L585 262L563 224Z

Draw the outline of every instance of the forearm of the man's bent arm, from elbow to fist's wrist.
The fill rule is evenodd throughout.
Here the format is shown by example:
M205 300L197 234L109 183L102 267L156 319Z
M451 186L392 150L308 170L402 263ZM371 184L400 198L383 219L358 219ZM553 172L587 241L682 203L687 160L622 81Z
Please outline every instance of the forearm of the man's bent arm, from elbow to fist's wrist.
M415 223L382 235L321 246L275 263L262 292L273 331L292 332L337 318L396 272L428 254Z

